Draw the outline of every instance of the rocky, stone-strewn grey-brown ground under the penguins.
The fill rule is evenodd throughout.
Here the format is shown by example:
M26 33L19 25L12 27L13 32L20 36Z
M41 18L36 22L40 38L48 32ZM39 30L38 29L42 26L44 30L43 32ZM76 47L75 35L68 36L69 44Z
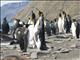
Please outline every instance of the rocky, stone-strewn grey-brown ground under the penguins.
M28 47L27 52L20 51L19 45L10 45L11 35L1 36L0 56L18 55L30 60L80 60L80 38L73 39L71 34L46 36L47 51ZM15 48L16 46L16 48Z

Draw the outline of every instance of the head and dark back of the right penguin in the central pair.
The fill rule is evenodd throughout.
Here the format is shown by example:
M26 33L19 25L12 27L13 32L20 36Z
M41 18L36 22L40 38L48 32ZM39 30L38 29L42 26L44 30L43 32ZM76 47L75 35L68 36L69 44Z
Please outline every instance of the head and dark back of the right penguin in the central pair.
M39 11L39 39L41 41L40 50L47 50L45 42L44 15L41 11Z

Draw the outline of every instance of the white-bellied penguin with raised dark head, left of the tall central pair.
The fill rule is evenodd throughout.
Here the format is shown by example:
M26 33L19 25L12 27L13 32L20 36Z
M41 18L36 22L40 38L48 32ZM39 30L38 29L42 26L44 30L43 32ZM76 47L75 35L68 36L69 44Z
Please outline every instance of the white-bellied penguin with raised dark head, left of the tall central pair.
M36 24L36 16L35 13L32 11L31 14L31 18L29 18L29 22L28 24L30 24L30 26L28 27L29 29L29 45L33 48L35 48L35 39L34 39L34 27Z

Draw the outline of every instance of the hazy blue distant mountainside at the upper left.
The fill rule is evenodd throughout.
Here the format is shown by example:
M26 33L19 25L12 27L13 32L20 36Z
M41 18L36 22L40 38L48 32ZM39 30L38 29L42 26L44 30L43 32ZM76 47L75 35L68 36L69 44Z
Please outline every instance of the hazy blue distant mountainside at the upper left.
M4 6L1 6L0 11L1 11L1 20L0 22L3 22L3 18L7 17L7 21L9 22L10 25L13 24L13 16L16 15L18 11L21 11L23 7L27 5L27 2L15 2L15 3L8 3L5 4ZM0 24L1 25L1 24Z

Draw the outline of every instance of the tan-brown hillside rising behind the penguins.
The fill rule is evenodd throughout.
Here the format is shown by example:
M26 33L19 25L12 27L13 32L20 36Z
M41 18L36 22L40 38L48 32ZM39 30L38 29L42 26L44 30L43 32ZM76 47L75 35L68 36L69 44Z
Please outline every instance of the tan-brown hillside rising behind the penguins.
M49 20L58 17L61 10L64 10L73 18L80 13L80 1L30 1L15 17L27 20L31 10L33 10L38 17L38 10L36 8L43 11L45 18Z

